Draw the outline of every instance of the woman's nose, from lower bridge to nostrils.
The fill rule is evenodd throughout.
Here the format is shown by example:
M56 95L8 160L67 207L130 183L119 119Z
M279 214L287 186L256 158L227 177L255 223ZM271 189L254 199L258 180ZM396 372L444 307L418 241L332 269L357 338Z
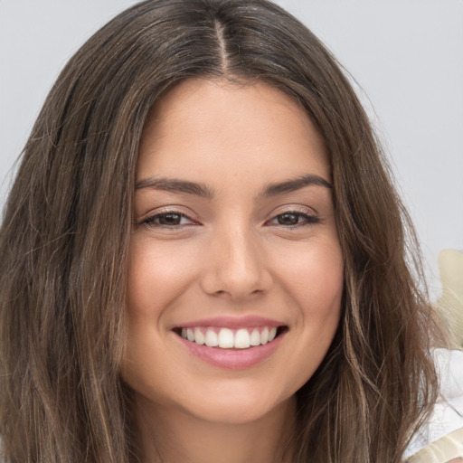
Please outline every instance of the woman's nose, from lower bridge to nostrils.
M240 300L265 293L271 285L268 259L259 237L245 227L215 234L204 256L204 292Z

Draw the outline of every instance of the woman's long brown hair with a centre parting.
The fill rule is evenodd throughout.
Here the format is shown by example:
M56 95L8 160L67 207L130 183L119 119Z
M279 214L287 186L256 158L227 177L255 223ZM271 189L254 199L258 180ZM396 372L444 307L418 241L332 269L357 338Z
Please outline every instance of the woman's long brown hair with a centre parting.
M0 231L5 458L137 461L130 391L119 378L137 151L156 101L198 76L265 80L288 93L329 152L343 314L326 359L298 391L295 461L401 461L437 393L429 352L439 331L415 283L416 241L343 71L265 0L147 0L61 72Z

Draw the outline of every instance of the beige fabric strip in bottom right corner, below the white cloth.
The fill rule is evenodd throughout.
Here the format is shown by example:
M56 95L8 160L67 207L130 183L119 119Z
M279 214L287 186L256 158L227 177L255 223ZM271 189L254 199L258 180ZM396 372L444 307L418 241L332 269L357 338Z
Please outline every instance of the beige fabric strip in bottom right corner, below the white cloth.
M407 463L463 463L463 428L431 442L420 449Z

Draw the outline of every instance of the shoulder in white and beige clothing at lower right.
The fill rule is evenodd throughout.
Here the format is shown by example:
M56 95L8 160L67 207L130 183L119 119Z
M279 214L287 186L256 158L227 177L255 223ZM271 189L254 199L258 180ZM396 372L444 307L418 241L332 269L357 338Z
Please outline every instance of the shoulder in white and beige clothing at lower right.
M463 458L463 351L436 349L434 358L440 380L439 400L404 454L410 463Z

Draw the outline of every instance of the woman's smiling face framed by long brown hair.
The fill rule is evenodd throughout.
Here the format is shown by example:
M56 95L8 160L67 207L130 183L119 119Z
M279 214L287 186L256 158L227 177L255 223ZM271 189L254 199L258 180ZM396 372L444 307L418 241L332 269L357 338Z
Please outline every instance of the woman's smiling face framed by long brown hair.
M330 181L317 130L268 84L165 95L137 165L123 376L138 396L237 423L307 382L343 292Z

